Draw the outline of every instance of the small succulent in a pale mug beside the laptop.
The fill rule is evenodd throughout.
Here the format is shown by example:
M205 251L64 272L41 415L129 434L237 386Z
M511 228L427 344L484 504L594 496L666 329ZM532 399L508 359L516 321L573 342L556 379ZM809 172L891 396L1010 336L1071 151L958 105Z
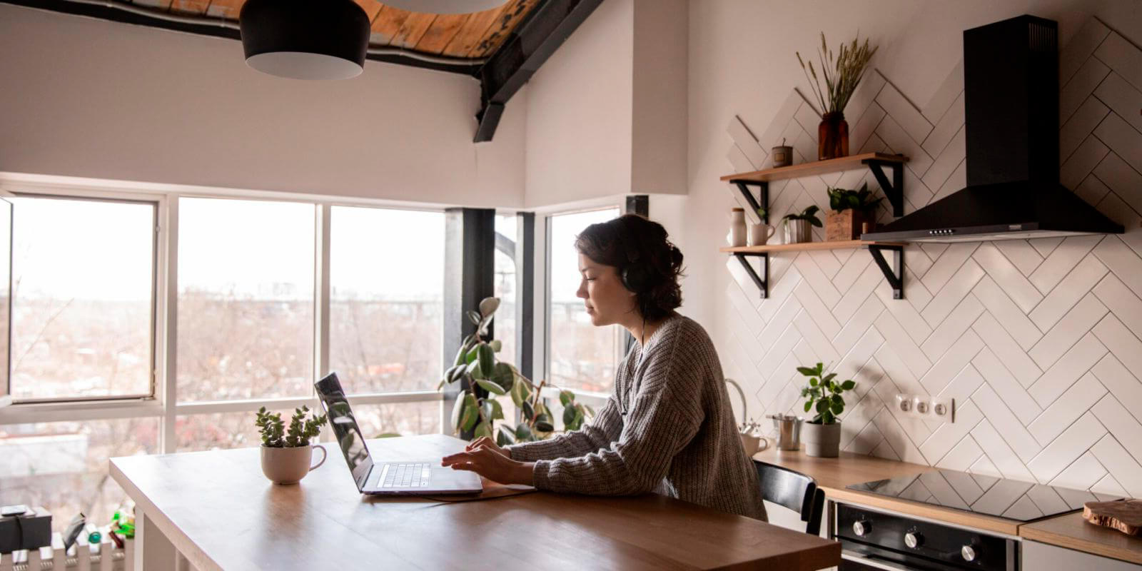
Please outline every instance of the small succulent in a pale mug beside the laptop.
M282 416L278 412L266 412L262 407L254 424L262 432L262 473L275 484L296 484L311 471L325 463L325 449L320 444L309 445L309 439L316 439L321 425L325 424L325 415L314 415L306 420L308 407L293 409L289 428L286 428ZM321 461L311 466L313 449L321 449Z

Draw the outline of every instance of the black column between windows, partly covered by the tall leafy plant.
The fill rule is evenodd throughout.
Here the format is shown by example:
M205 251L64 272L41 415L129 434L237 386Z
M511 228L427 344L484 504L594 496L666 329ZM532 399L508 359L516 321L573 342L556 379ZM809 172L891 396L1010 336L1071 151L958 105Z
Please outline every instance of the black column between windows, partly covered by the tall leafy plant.
M476 325L465 317L465 312L480 311L480 300L493 296L494 259L496 210L444 210L444 354L441 371L452 367L464 338L476 331ZM489 327L489 333L494 335L492 327L494 323ZM442 418L445 434L452 432L449 423L460 389L456 385L445 385Z

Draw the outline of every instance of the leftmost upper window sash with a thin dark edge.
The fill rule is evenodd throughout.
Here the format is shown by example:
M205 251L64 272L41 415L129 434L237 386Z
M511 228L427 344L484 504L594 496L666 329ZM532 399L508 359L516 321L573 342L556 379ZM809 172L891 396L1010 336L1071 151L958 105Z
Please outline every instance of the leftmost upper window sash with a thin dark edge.
M156 203L13 202L13 397L153 394Z

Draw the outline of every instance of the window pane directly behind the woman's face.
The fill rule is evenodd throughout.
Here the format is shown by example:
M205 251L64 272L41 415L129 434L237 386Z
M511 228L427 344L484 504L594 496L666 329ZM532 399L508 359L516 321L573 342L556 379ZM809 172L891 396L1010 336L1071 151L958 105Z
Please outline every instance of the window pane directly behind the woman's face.
M587 226L619 216L618 208L548 218L548 379L572 391L609 393L622 354L620 325L590 323L579 289L576 235Z

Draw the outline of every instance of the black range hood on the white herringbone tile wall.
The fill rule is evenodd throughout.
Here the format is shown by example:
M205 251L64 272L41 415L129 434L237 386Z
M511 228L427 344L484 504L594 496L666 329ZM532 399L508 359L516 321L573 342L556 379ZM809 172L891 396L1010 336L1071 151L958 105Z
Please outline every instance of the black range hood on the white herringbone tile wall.
M964 31L967 187L862 240L970 242L1121 234L1059 184L1059 25L1020 16Z

